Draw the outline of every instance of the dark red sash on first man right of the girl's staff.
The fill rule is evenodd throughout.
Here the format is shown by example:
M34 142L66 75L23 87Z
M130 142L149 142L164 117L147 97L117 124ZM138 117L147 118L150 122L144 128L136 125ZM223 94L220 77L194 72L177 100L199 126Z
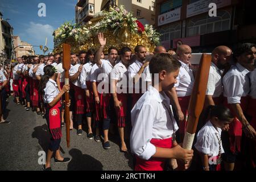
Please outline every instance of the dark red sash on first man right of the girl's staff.
M83 90L76 85L73 85L73 89L75 92L75 102L76 102L76 114L84 114L84 107L85 107L85 93L83 92Z

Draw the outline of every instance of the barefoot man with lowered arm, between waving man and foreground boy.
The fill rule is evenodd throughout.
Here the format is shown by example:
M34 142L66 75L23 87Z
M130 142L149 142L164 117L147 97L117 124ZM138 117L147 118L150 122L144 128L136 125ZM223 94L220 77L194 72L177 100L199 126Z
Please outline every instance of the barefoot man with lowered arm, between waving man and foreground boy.
M131 61L131 49L129 47L123 47L121 49L121 61L116 64L111 73L111 85L114 93L112 93L114 98L115 113L117 115L118 131L121 139L120 151L126 152L127 147L125 143L125 131L127 118L127 81L128 81L128 71Z

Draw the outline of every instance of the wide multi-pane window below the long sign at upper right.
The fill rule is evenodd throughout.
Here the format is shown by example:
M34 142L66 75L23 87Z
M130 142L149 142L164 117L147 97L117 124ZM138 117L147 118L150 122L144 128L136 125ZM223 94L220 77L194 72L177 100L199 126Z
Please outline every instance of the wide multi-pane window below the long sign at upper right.
M195 16L188 20L187 36L210 34L229 30L231 10L218 10L216 17L209 17L208 14Z

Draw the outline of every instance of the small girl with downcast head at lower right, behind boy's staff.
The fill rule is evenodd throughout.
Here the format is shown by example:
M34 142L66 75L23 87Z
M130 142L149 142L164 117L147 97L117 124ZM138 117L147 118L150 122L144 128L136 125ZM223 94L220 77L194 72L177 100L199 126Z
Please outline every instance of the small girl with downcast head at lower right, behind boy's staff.
M220 171L221 154L224 153L221 131L228 130L234 116L221 105L209 105L206 114L209 121L199 130L195 148L200 154L204 171Z

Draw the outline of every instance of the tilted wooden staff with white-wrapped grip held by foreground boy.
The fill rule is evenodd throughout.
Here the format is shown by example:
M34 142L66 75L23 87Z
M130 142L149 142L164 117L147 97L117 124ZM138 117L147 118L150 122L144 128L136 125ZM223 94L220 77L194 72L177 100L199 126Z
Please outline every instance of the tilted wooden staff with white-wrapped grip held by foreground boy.
M191 150L192 148L199 116L204 107L211 61L212 56L203 53L199 64L199 70L196 73L191 98L189 100L188 123L183 140L183 148L186 150Z

